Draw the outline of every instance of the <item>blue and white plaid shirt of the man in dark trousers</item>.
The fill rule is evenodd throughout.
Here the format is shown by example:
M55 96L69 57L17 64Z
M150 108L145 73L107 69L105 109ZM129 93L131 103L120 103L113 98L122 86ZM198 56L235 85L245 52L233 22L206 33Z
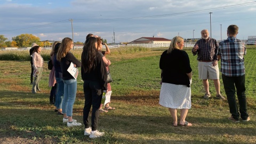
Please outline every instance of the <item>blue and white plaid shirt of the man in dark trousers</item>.
M229 37L219 43L217 52L221 55L221 73L225 76L245 75L244 55L246 47L244 42L235 37Z

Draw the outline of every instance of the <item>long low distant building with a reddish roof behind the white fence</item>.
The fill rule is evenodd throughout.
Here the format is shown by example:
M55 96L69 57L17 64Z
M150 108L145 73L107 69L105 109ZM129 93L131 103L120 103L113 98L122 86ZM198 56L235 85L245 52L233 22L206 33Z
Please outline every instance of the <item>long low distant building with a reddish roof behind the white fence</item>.
M163 43L171 43L171 39L166 39L162 37L141 37L135 39L134 41L128 44L163 44Z

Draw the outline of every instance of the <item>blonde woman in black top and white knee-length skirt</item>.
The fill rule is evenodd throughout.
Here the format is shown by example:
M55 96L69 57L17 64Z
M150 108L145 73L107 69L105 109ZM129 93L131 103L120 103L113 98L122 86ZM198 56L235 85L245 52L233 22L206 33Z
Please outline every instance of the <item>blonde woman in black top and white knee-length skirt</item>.
M182 50L184 39L176 36L172 39L168 50L161 55L159 67L162 69L162 87L159 104L169 108L173 118L173 126L191 126L185 119L191 108L192 69L188 54ZM178 123L177 109L180 109Z

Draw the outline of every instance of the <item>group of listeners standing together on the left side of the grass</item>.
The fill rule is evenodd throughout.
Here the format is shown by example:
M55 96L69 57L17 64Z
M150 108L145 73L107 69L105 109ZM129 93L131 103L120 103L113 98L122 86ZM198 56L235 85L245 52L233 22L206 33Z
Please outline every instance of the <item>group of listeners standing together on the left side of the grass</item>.
M106 51L102 51L102 44L106 46ZM71 63L74 67L81 67L81 75L84 81L85 104L83 109L83 121L85 125L84 135L90 138L99 138L104 135L99 132L98 119L99 113L107 113L114 110L109 103L101 104L102 93L104 90L111 91L110 83L107 83L107 71L109 70L110 60L105 55L110 53L107 44L102 42L99 36L89 34L84 43L81 60L79 61L70 50L73 48L71 38L63 38L61 43L54 42L50 53L53 68L49 75L49 86L52 87L50 93L50 104L54 103L57 114L63 115L62 122L67 123L68 127L81 126L82 123L73 119L73 105L76 99L77 81L69 72ZM30 49L31 55L31 83L32 92L39 90L39 81L43 71L43 58L41 57L41 46L33 44ZM33 74L33 75L32 75ZM34 81L33 81L34 77ZM33 82L32 82L33 81ZM92 107L91 127L89 125L89 112Z

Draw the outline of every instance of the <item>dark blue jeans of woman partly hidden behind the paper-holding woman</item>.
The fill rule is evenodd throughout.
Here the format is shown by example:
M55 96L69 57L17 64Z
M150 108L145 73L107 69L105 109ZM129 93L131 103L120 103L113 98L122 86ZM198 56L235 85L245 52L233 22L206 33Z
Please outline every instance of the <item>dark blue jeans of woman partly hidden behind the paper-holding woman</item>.
M63 99L63 94L64 94L64 83L62 81L62 78L56 78L57 81L57 94L56 94L56 99L55 99L55 107L58 109L62 108L62 99Z

